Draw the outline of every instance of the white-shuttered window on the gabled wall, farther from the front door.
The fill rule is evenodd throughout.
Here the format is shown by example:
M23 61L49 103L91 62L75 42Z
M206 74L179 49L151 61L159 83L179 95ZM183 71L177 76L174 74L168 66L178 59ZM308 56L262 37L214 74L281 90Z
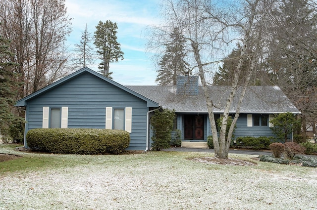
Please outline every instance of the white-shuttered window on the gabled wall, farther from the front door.
M42 115L43 128L67 128L68 127L68 107L50 108L43 107Z

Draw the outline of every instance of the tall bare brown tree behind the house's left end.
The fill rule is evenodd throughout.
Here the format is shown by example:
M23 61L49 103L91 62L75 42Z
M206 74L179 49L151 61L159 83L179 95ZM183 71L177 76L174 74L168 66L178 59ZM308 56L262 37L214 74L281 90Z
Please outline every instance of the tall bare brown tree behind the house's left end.
M67 74L64 42L71 29L64 0L0 1L0 22L1 33L12 41L11 61L19 64L16 72L24 83L19 98Z

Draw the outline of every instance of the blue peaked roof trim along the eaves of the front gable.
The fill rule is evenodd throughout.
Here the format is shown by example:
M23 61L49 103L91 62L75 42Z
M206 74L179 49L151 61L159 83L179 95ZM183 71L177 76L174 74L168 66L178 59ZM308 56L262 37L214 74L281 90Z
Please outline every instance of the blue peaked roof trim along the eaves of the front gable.
M82 75L84 73L90 73L90 74L92 74L92 75L104 80L105 82L107 82L109 84L112 84L112 85L114 85L114 86L116 86L116 87L118 87L118 88L120 88L120 89L122 89L122 90L124 90L124 91L126 91L126 92L128 92L128 93L130 93L130 94L132 94L132 95L144 100L144 101L146 101L148 107L159 107L159 103L147 98L144 95L141 95L141 94L135 92L134 90L129 89L126 86L118 84L118 83L114 82L113 80L110 80L110 79L104 77L103 75L101 75L98 72L95 72L95 71L89 69L88 67L84 67L84 68L82 68L82 69L80 69L80 70L78 70L78 71L76 71L76 72L74 72L74 73L72 73L72 74L70 74L70 75L58 80L58 81L56 81L55 83L50 84L50 85L48 85L48 86L46 86L46 87L44 87L44 88L42 88L42 89L40 89L40 90L28 95L28 96L18 100L16 102L15 106L22 106L22 107L27 106L27 101L29 101L29 100L31 100L31 99L33 99L33 98L35 98L35 97L37 97L37 96L39 96L41 94L44 94L47 91L52 90L54 87L57 87L57 86L59 86L61 84L65 84L65 83L67 83L67 81L69 81L71 79L74 79L74 78L76 78L76 77L78 77L78 76L80 76L80 75Z

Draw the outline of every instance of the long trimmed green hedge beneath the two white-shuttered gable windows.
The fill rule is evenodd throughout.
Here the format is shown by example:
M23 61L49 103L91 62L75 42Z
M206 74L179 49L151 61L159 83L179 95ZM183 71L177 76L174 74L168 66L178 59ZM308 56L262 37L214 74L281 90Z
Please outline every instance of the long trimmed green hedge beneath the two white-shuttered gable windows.
M26 134L31 149L59 154L119 154L129 146L124 130L89 128L36 128Z

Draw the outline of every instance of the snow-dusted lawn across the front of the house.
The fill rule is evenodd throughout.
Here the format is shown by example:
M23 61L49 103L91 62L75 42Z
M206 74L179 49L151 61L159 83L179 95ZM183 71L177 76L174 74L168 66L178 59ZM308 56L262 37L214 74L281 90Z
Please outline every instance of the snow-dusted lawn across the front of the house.
M0 210L309 210L317 169L257 162L223 166L188 158L211 153L134 155L0 153L49 158L52 165L1 172ZM231 158L251 160L247 155ZM15 160L17 161L17 160Z

